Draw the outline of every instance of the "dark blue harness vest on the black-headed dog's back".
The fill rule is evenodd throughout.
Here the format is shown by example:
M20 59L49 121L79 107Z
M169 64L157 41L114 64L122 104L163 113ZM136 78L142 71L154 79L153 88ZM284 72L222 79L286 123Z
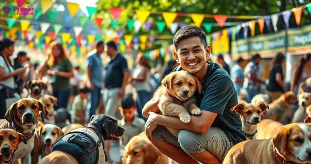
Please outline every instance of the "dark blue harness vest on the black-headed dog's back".
M104 164L107 159L104 141L92 125L67 133L54 144L52 151L56 150L71 154L79 164Z

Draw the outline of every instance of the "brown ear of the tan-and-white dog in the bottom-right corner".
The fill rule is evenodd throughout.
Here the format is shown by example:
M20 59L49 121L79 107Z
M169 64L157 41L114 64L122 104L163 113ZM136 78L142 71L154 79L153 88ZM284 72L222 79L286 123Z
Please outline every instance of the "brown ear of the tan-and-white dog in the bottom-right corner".
M276 147L280 154L283 154L287 146L287 139L289 134L289 128L281 128L280 131L272 138L273 146Z

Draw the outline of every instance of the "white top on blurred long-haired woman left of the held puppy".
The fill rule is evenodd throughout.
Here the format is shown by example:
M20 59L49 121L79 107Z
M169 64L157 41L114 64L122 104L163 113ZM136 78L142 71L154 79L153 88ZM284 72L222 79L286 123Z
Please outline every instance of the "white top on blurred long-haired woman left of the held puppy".
M136 69L133 72L133 78L141 77L142 69L143 69L143 66L137 65ZM151 86L149 82L150 82L150 71L148 70L148 73L146 75L146 80L144 82L134 81L133 85L136 91L144 90L147 92L151 92Z

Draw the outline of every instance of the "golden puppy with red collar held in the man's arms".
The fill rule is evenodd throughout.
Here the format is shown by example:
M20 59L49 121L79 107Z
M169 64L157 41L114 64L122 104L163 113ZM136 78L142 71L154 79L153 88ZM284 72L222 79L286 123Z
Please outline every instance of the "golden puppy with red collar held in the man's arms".
M202 85L199 80L187 71L177 71L166 75L162 85L156 90L153 98L159 100L159 109L162 114L178 116L183 123L190 122L190 114L200 115L193 94L201 93ZM190 114L189 114L190 113ZM175 136L178 130L168 128Z

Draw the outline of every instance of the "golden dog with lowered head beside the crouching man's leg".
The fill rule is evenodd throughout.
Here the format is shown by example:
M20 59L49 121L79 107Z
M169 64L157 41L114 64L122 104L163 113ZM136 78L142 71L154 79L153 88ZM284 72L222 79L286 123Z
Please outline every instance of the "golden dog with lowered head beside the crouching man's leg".
M145 132L133 137L124 148L123 164L167 164L169 158L148 139Z

